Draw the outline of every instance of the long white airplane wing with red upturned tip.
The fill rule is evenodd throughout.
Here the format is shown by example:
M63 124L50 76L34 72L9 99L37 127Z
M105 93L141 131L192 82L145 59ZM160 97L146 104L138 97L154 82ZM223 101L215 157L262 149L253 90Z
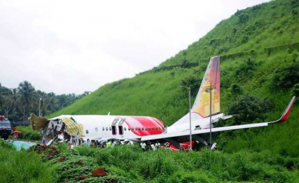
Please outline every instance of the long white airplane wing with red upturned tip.
M294 101L295 101L295 97L293 97L292 100L289 102L288 106L286 107L286 109L283 112L283 115L276 121L212 128L212 132L247 129L247 128L254 128L254 127L268 126L269 124L274 124L274 123L282 123L283 121L286 121L288 119L288 116L291 112ZM194 139L202 138L202 137L199 137L199 135L205 134L205 133L210 133L210 129L193 130L192 138L193 137L194 137ZM189 139L189 135L190 135L189 131L177 132L177 133L162 133L162 134L157 134L157 135L142 136L141 141L163 139L163 140L169 141L170 143L172 143L175 146L179 146L178 145L179 143L186 142L186 140Z

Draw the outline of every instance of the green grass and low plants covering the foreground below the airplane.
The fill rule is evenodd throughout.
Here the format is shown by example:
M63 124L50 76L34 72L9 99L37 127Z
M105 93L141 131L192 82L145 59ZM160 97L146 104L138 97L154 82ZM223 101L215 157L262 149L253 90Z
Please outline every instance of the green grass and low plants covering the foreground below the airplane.
M49 150L16 151L0 143L0 172L3 183L219 183L299 181L299 161L271 151L225 153L203 149L193 152L157 150L143 152L139 146L111 149L77 147L59 153ZM62 158L65 156L65 159ZM4 165L4 166L2 166ZM93 171L103 167L103 177ZM17 169L16 169L17 168Z

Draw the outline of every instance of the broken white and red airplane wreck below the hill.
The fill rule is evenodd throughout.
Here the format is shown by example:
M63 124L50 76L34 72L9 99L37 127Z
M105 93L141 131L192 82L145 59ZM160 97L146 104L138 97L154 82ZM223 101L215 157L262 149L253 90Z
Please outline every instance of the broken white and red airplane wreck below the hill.
M102 145L108 141L131 143L159 140L170 142L171 149L178 150L180 145L185 149L189 145L193 147L195 141L207 146L210 128L214 133L262 127L286 121L294 101L295 97L291 99L281 118L276 121L214 128L219 119L231 117L220 113L220 56L216 56L210 59L190 113L170 127L165 128L162 121L150 116L62 115L47 119L32 114L30 121L33 130L39 130L48 145L58 140L72 140L74 144L78 144L80 138L90 139L95 145ZM193 140L191 144L190 127Z

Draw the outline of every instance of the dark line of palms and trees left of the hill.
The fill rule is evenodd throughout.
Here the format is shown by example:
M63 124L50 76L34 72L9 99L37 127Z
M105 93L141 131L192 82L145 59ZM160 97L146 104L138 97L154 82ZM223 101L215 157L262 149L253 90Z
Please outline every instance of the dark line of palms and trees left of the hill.
M0 83L0 115L11 121L26 121L31 113L41 116L58 111L90 92L85 91L80 95L74 93L56 95L54 92L46 93L35 90L28 81L19 83L16 88L7 88Z

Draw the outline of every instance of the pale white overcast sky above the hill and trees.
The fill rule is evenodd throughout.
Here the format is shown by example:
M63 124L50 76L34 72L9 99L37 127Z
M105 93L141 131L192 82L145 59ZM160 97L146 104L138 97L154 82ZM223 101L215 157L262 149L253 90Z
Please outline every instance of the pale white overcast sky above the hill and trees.
M94 91L151 69L268 0L0 0L0 83Z

